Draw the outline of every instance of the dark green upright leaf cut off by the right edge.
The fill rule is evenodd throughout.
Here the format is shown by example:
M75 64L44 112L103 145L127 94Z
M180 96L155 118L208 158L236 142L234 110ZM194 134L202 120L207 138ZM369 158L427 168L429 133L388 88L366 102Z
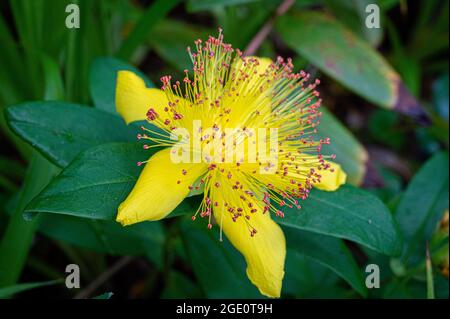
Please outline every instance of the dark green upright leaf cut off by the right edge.
M411 180L395 217L405 239L402 260L415 265L425 260L426 242L448 209L448 154L433 156Z

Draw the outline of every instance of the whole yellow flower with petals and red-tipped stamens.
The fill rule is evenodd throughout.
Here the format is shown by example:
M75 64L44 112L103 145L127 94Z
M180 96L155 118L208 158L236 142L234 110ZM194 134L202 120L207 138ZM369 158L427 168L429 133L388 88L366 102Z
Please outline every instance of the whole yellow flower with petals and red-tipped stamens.
M346 179L320 154L329 139L314 139L318 81L294 73L290 60L244 57L221 32L195 44L195 52L188 48L192 79L187 70L181 83L166 76L159 90L132 72L118 74L117 111L127 123L152 124L138 135L149 141L145 148L167 148L143 162L117 221L160 220L201 186L203 201L192 219L207 218L211 228L214 217L220 234L244 255L250 281L279 297L286 243L273 219L284 216L283 207L300 208L313 186L333 191Z

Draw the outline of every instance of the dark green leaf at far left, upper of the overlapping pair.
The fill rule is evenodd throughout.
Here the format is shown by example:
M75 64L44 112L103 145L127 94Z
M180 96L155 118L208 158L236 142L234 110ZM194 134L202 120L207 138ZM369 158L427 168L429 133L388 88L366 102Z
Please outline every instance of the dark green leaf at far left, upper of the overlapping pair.
M9 107L10 127L55 164L64 167L81 151L107 142L136 140L137 129L106 112L63 102Z

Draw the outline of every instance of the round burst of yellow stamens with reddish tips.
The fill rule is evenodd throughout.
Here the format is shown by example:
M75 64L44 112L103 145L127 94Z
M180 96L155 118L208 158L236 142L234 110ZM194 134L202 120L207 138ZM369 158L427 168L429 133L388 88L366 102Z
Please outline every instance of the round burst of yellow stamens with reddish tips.
M208 218L211 228L213 212L218 213L216 222L220 225L229 215L233 222L245 221L254 236L257 230L252 226L253 216L273 214L282 218L284 208L300 209L300 201L320 182L321 173L330 170L325 159L333 155L321 154L322 146L330 140L315 138L321 116L321 99L316 90L319 81L311 81L304 71L295 73L291 59L279 57L261 70L257 58L244 57L224 43L221 30L217 38L197 40L195 46L195 50L188 48L193 77L189 77L188 70L182 82L172 83L170 76L162 77L162 90L169 103L162 114L149 106L148 123L163 132L143 127L144 134L138 138L149 141L145 148L173 146L179 141L168 139L171 132L177 128L192 130L192 121L201 120L196 144L219 141L223 153L202 158L207 166L205 174L196 186L189 186L190 190L203 188L203 201L192 219ZM227 127L237 128L231 144L226 143ZM252 128L261 127L278 130L276 160L264 159L256 152L250 162L247 151L232 163L225 161L227 152L251 140L255 132ZM194 144L191 151L201 153ZM189 170L180 169L177 183L186 177Z

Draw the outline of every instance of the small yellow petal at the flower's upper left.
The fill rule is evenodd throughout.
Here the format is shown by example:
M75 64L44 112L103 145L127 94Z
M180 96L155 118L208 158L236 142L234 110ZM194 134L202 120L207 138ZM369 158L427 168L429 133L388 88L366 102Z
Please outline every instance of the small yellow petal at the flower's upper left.
M145 120L153 108L163 114L168 100L164 91L147 88L144 80L130 71L119 71L116 84L116 110L127 124Z

